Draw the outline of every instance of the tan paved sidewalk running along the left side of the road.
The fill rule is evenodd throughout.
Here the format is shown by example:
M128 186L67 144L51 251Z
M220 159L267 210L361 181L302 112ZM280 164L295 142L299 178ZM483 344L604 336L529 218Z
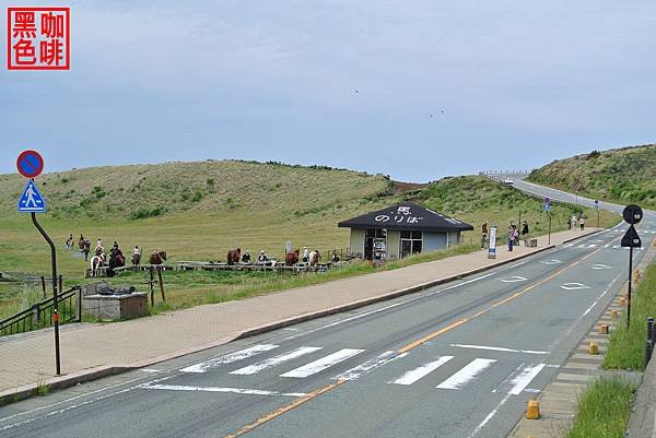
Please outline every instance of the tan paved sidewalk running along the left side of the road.
M63 325L60 340L65 376L60 377L54 376L51 330L0 338L0 402L16 394L19 398L27 395L36 382L66 387L221 345L247 334L420 291L596 230L553 234L551 246L543 236L538 238L537 248L520 246L513 252L502 246L496 260L489 260L487 250L480 250L394 271L125 322Z

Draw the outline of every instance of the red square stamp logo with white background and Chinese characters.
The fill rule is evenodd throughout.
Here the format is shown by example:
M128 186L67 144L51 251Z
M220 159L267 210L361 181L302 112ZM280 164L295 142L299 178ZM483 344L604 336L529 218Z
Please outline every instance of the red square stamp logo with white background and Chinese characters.
M70 8L7 8L8 70L70 70Z

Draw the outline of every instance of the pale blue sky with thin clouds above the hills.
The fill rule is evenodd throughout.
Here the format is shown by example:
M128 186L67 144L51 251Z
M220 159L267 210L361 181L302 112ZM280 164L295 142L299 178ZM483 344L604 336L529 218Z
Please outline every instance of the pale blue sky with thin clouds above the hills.
M656 140L653 1L15 5L71 8L71 70L8 71L0 50L0 174L34 149L46 171L238 158L429 181Z

